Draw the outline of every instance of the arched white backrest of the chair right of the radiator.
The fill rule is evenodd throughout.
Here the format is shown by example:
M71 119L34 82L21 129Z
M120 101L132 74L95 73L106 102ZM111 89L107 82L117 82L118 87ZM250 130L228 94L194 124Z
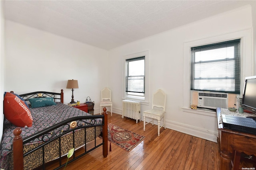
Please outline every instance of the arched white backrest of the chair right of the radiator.
M165 111L165 105L166 105L166 93L161 89L156 90L156 92L154 92L153 94L152 109L154 109L154 107L158 107L158 108L163 108L163 110Z

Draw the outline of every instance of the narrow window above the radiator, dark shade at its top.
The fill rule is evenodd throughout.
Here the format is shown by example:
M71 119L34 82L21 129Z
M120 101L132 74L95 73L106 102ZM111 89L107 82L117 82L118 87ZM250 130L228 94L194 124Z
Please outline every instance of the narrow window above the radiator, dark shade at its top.
M144 100L145 56L126 59L126 97Z

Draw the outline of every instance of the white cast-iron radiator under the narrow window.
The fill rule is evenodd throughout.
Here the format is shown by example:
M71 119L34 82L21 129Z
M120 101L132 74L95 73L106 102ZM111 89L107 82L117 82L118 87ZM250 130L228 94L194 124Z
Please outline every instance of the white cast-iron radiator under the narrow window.
M140 102L123 100L122 118L124 117L135 119L136 123L138 123L138 120L140 120Z

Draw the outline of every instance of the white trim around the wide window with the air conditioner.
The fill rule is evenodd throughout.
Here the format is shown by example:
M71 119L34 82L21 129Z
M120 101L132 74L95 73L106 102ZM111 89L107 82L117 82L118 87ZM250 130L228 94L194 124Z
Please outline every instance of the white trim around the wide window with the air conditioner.
M240 93L244 87L244 78L254 74L253 53L252 53L252 27L240 31L225 33L212 37L196 39L184 42L183 48L183 104L182 108L190 108L190 48L205 44L218 43L232 39L241 39L241 86ZM245 55L246 54L246 55ZM242 94L240 94L242 96ZM190 109L192 110L192 109Z

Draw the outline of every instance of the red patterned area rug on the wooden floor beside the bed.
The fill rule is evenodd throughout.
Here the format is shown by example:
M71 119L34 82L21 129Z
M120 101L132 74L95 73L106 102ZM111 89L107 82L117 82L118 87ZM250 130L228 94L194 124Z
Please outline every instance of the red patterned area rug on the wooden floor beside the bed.
M118 147L130 152L134 149L140 142L145 139L144 136L138 135L131 131L122 129L116 125L108 123L108 129L110 130L111 139L108 139L111 143L117 145Z

